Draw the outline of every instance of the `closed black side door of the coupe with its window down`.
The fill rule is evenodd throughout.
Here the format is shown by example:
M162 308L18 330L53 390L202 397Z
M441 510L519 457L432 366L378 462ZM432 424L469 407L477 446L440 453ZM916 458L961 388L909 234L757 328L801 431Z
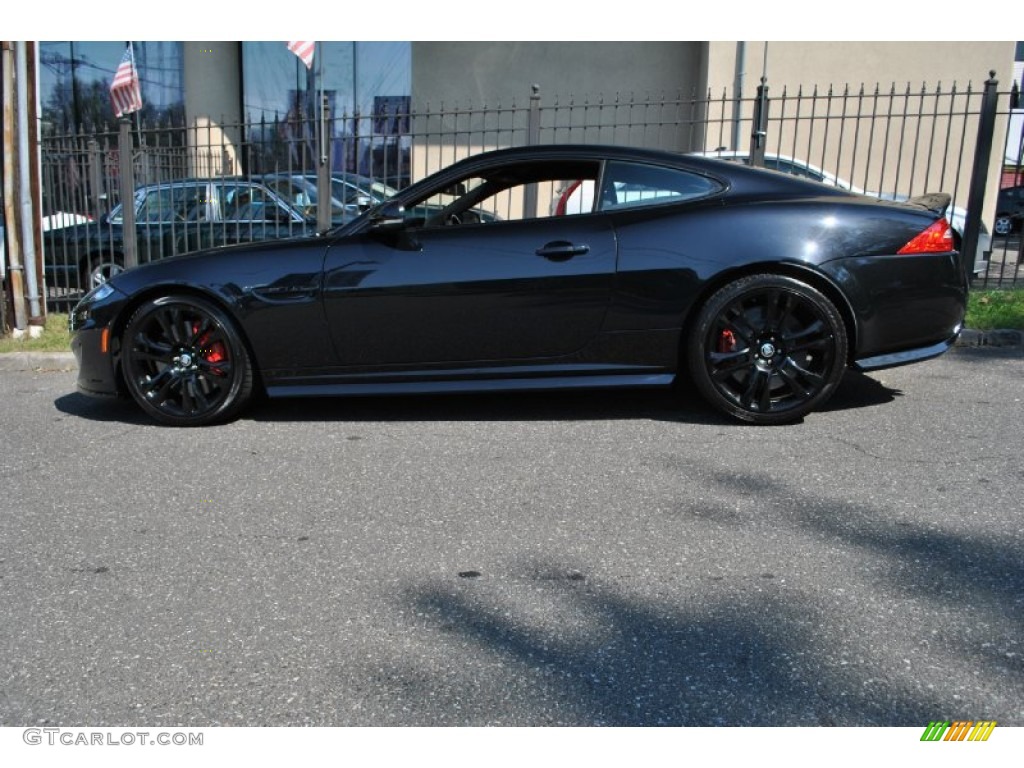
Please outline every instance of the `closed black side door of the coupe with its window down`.
M587 172L596 176L595 169ZM553 361L597 335L615 273L608 217L520 215L519 187L532 187L526 199L536 211L549 210L537 199L544 184L492 184L504 188L487 201L472 194L411 201L408 225L331 246L325 311L346 365Z

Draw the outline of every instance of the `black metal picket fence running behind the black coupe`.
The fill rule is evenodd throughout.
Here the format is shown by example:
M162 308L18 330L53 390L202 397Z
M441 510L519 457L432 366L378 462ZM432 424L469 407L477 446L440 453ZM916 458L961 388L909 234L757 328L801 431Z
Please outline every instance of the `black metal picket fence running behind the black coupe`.
M1000 162L1008 140L1021 145L1020 136L1007 134L1020 131L1011 120L1018 93L1016 84L999 91L991 78L981 87L843 86L777 93L762 81L757 93L738 97L723 92L546 98L535 86L522 99L489 105L414 108L409 99L390 99L370 115L317 115L306 105L237 123L44 133L47 306L67 310L91 282L125 264L312 231L350 218L388 194L386 187L403 187L479 152L535 143L718 154L896 200L947 191L959 212L953 223L965 247L972 236L979 238L981 251L987 253L990 244L975 284L1016 286L1024 283L1019 231L991 241L988 232L1000 173L1021 176L1019 151L1015 167ZM123 162L125 152L130 162ZM284 177L296 181L286 188ZM178 198L157 194L162 185L181 187L186 179L201 191ZM208 183L198 185L201 181ZM264 212L276 212L227 226L230 196L241 199L243 182L247 196L262 196ZM333 200L317 194L328 187ZM365 195L355 202L339 200L347 188ZM125 231L130 216L119 215L126 189L136 203L124 213L139 214L135 237ZM162 201L156 209L147 196Z

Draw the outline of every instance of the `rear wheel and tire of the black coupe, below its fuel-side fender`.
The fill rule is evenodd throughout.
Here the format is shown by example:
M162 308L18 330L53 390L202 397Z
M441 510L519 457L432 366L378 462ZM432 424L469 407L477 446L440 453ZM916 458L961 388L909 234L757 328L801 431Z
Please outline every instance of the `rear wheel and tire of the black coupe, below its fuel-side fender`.
M827 400L846 371L836 305L793 278L755 274L700 308L687 348L690 376L715 408L752 424L786 424Z

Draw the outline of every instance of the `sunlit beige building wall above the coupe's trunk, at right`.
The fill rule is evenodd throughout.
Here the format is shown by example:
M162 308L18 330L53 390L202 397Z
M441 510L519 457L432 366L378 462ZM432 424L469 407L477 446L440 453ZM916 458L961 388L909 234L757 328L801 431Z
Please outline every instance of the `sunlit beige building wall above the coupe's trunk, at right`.
M708 87L716 97L732 96L739 45L713 42L709 46ZM977 111L990 71L995 71L1000 91L1010 89L1014 52L1013 42L746 42L742 95L753 99L765 73L774 119L782 114L779 97L783 93L803 96L800 103L786 101L786 120L781 125L771 124L768 152L820 166L867 191L919 195L941 190L954 195L954 202L966 207L978 126L975 118L964 113ZM880 86L878 97L876 85ZM849 95L844 98L847 86ZM859 98L862 86L863 99ZM948 94L953 86L957 96L936 97L937 88ZM974 96L967 95L969 87ZM815 88L817 98L813 98ZM831 99L827 98L829 88ZM895 96L891 97L893 88ZM726 101L723 120L730 130L709 136L708 150L733 148L735 113L731 101ZM748 121L752 106L751 100L743 102L741 115ZM905 113L912 117L889 117ZM795 120L798 114L804 119ZM827 129L825 116L830 118ZM995 128L996 145L1005 130L1004 116ZM748 150L750 140L751 123L745 122L735 148ZM989 171L988 218L994 212L998 187L997 155L993 153Z

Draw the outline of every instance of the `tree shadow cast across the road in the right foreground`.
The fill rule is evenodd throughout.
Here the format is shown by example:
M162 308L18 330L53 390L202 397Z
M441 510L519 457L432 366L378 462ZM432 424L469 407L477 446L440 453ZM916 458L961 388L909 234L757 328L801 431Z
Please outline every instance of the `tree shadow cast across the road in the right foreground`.
M816 547L817 564L801 565L798 555L796 567L823 567L836 579L825 588L835 586L841 596L822 599L807 582L783 589L726 575L718 586L708 582L723 577L700 577L692 589L674 587L671 597L651 598L600 586L557 563L522 565L489 581L481 574L471 583L419 586L409 591L407 607L444 633L446 653L458 651L470 666L490 658L510 667L506 684L515 686L526 712L513 717L490 707L468 714L475 694L439 678L420 681L418 692L447 699L462 713L460 724L1024 722L1019 528L1016 540L951 532L930 527L927 518L893 519L870 505L755 473L713 482L727 482L730 493L737 482L757 489L765 498L765 524ZM856 572L829 565L829 551L837 561L856 562ZM732 570L728 562L722 567ZM651 578L671 578L659 568ZM564 578L549 579L539 591L523 577L531 572ZM538 611L548 617L539 620ZM558 627L559 611L579 621ZM907 648L912 668L903 657ZM858 652L864 657L856 658Z

